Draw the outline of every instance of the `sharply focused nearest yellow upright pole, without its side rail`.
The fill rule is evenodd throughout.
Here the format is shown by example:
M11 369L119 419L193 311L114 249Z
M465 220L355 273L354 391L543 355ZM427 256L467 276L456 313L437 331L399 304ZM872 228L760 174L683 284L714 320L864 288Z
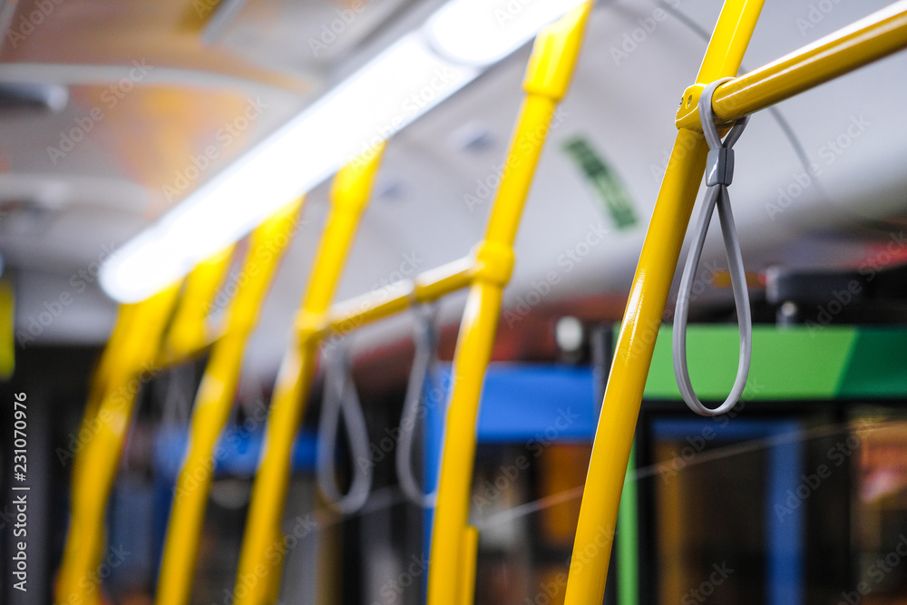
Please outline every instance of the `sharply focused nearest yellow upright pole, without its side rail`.
M697 83L736 75L764 0L727 0ZM686 103L688 100L684 100ZM678 132L620 327L573 543L566 605L600 605L639 405L680 248L705 170L701 133Z

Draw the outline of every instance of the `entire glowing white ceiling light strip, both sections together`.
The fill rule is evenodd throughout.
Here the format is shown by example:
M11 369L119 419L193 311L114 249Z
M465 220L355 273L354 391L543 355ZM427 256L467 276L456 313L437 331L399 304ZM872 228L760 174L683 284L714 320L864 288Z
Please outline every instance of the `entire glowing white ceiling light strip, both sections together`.
M507 11L508 4L509 18L499 26L502 17L494 10ZM132 303L167 287L472 82L480 65L511 54L578 4L444 5L423 30L398 40L122 246L102 268L102 288Z

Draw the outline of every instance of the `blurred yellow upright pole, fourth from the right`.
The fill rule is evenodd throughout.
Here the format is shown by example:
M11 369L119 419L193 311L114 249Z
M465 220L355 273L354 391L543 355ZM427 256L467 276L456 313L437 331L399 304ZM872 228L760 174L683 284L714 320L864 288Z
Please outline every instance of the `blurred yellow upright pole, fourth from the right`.
M253 231L237 278L239 289L226 312L226 329L211 348L192 409L190 441L177 479L164 542L155 598L161 605L190 602L205 506L214 472L214 449L233 406L243 349L258 324L271 278L296 231L301 207L300 199L279 210Z

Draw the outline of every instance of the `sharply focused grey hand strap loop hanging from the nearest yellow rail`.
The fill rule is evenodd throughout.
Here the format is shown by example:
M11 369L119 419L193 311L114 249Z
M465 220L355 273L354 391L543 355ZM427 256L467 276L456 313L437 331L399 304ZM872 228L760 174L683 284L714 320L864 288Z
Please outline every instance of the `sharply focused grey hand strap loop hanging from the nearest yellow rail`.
M687 264L680 279L678 302L674 315L674 376L677 378L680 395L688 407L699 415L715 416L725 414L733 408L743 395L746 388L746 377L749 374L750 357L753 350L753 319L750 315L749 291L746 288L746 272L743 266L743 257L740 253L740 241L737 239L734 215L731 213L731 201L727 186L734 177L734 150L731 149L740 134L746 128L747 116L736 122L727 134L724 141L718 136L712 113L712 93L721 83L732 78L723 78L710 83L699 98L699 119L702 121L702 131L708 142L708 159L706 165L706 198L699 213L696 226L696 235L689 250ZM721 235L725 242L728 270L731 285L734 289L734 304L736 305L737 324L740 329L740 361L737 365L737 374L730 395L724 403L716 408L708 408L699 401L693 385L690 383L687 367L687 318L689 303L692 297L696 268L699 257L702 255L703 244L706 241L708 223L712 218L715 207L718 208L718 219L721 222Z

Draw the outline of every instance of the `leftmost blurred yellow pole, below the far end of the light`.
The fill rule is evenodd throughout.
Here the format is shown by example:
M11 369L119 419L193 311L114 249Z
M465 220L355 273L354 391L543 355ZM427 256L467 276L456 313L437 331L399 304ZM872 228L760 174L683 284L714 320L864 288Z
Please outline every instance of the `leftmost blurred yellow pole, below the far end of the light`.
M179 286L166 288L128 311L130 331L122 334L120 355L111 359L107 388L88 422L78 472L73 473L72 514L56 584L56 602L101 602L98 566L104 547L104 514L120 462L122 445L143 374L152 363L171 317ZM80 431L80 440L83 433ZM75 471L75 469L73 469Z

